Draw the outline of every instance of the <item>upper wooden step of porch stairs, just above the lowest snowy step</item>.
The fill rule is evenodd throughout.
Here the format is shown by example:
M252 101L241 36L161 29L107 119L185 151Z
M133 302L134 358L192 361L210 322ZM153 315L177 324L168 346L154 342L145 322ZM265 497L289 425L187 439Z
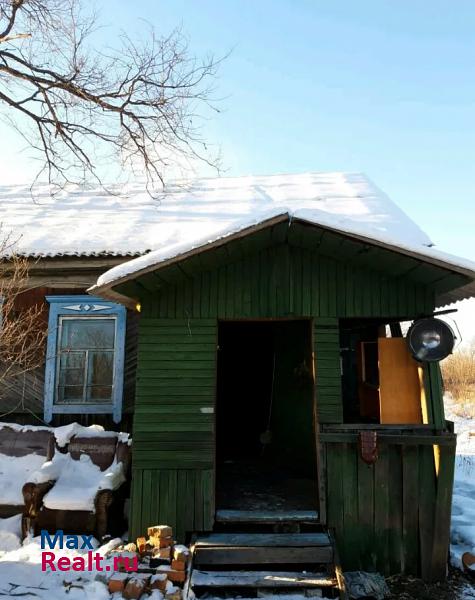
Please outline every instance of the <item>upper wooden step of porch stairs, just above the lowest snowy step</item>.
M197 567L317 565L332 561L333 547L325 533L213 533L198 538L194 548Z

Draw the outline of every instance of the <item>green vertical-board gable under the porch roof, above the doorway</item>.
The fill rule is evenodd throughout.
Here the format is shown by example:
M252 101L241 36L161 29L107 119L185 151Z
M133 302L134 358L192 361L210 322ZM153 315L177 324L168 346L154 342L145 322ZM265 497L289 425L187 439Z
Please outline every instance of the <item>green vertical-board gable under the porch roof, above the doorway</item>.
M203 259L204 260L204 259ZM185 271L185 268L184 268ZM170 319L414 317L434 308L430 288L287 245L235 262L188 269L144 298L147 315ZM165 277L165 276L163 276ZM160 281L160 275L156 276Z

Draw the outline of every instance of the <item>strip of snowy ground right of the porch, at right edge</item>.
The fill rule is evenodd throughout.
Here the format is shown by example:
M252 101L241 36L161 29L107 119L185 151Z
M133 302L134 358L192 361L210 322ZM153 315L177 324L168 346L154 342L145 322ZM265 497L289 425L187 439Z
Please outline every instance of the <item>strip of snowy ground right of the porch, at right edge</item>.
M447 397L446 418L457 433L450 557L458 568L464 552L475 554L475 419L460 416L460 411L463 407Z

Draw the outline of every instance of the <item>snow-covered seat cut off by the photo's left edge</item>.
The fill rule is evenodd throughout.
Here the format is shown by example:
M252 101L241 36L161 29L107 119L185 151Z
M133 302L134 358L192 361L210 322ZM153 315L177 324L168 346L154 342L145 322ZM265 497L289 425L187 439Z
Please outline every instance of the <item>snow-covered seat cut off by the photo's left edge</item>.
M47 428L0 426L0 518L27 514L22 489L32 474L54 456L54 433ZM36 500L50 489L46 480L35 490Z

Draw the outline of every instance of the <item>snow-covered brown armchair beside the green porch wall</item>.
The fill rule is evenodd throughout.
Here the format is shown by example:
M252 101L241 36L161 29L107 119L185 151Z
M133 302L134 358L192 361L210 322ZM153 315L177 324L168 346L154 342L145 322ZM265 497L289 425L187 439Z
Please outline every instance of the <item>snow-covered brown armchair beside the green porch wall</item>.
M54 485L29 510L30 528L69 533L123 533L123 502L130 446L120 434L74 436L66 452L57 452L24 486L25 503L37 498L34 490Z

